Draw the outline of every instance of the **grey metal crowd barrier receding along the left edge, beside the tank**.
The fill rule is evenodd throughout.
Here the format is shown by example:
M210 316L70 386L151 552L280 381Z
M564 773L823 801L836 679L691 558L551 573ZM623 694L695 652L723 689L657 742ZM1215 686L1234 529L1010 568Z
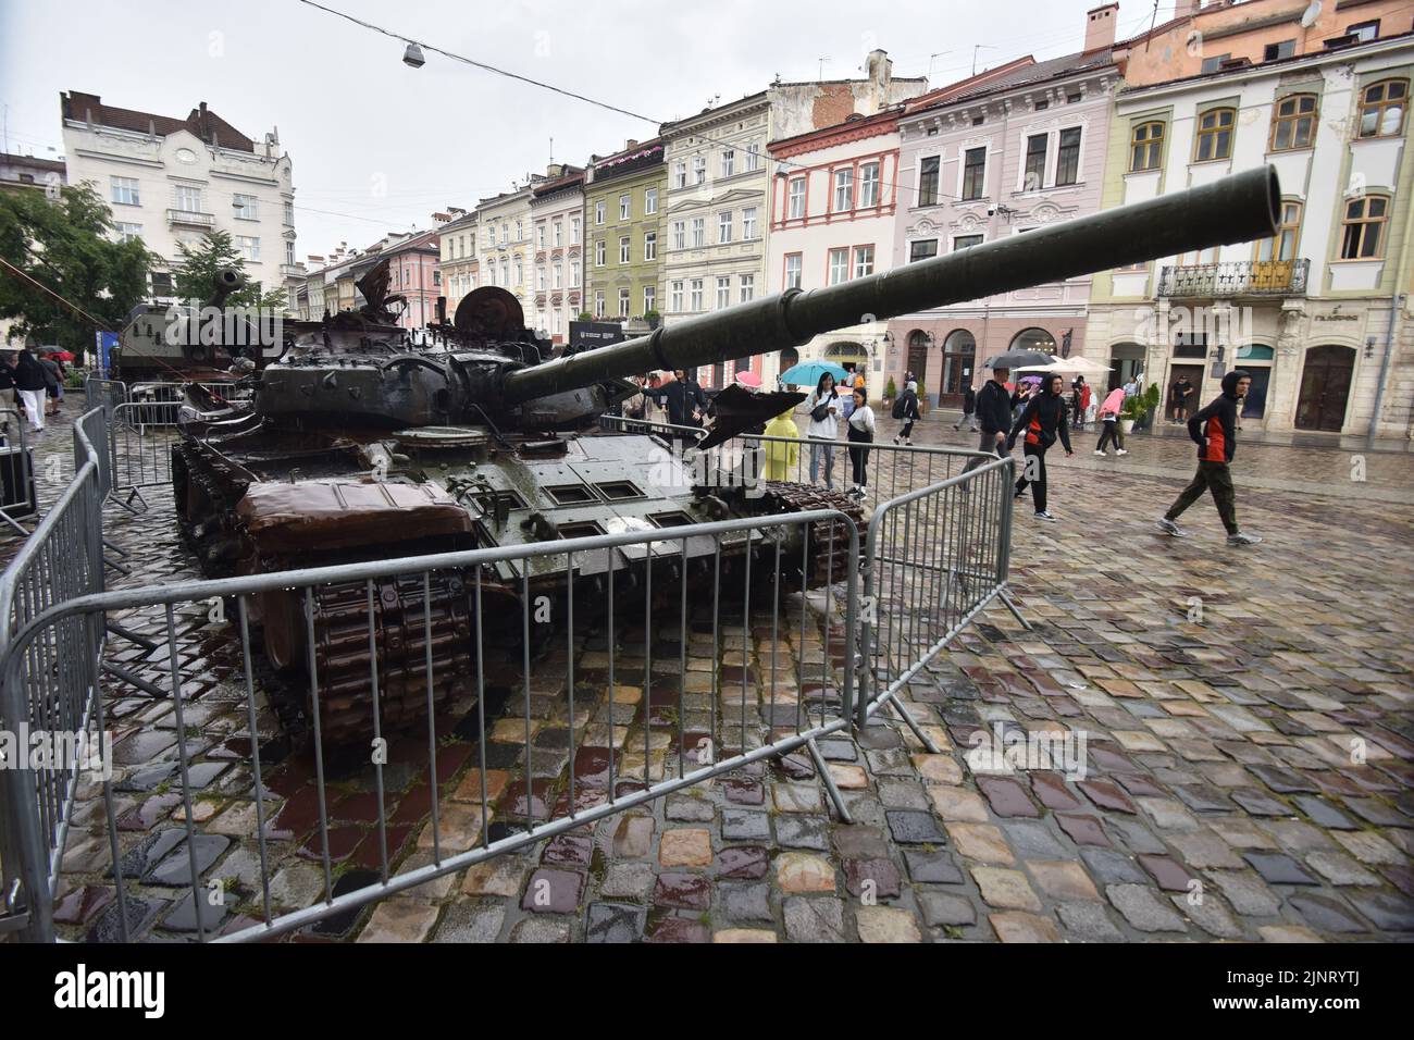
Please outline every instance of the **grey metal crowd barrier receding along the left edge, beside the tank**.
M102 440L90 437L95 423L102 429L102 419L99 408L75 424L75 456L83 461L0 574L0 659L13 665L0 681L0 729L16 734L21 757L30 754L35 736L58 737L51 749L72 750L81 734L103 730L102 698L96 696L103 616L54 616L58 604L103 589ZM16 642L20 631L28 634ZM0 768L0 932L48 915L81 780L74 756L16 765Z

